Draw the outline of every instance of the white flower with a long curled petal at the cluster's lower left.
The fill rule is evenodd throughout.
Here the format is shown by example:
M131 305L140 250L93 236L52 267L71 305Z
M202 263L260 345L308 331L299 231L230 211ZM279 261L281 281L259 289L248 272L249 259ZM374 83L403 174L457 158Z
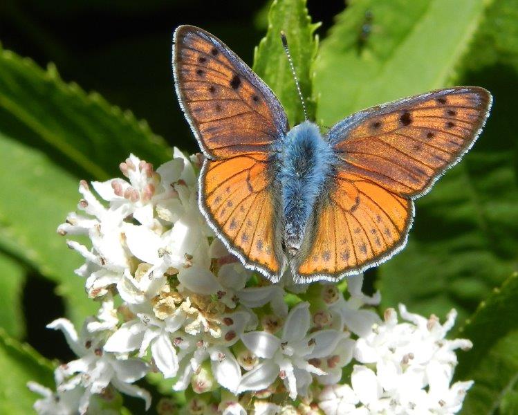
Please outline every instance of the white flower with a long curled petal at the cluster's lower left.
M68 346L79 359L61 365L56 369L57 390L71 391L84 388L78 405L79 412L85 414L93 394L100 394L109 384L124 394L145 400L146 409L151 404L151 396L131 383L145 376L148 367L138 359L118 360L111 353L104 353L95 338L79 337L68 320L60 318L48 324L49 329L63 331ZM84 330L86 331L86 330Z

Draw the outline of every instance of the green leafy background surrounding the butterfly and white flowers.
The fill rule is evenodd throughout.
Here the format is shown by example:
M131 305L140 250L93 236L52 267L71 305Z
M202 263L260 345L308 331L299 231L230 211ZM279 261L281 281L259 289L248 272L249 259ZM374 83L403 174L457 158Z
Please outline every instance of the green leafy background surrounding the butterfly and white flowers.
M416 203L407 248L370 270L366 289L382 291L382 308L403 302L411 311L444 317L454 307L459 326L472 315L463 331L472 339L501 326L476 351L479 358L516 344L509 339L516 338L518 315L506 302L515 304L510 293L518 295L512 277L518 269L518 139L512 124L518 1L311 0L308 14L322 22L315 32L316 57L315 26L303 0L279 1L254 55L268 28L269 6L242 0L0 2L3 353L21 360L13 356L24 350L40 361L17 343L28 342L46 358L70 360L62 335L45 325L62 315L77 325L95 311L84 282L73 274L80 257L55 234L80 199L78 180L119 176L118 163L129 152L159 165L172 145L198 151L172 82L172 31L179 24L201 26L254 64L292 125L302 114L282 60L280 28L288 33L311 113L323 126L364 107L445 86L490 90L494 107L477 144ZM493 288L506 279L508 291L499 297ZM479 306L484 300L494 305L489 311ZM492 405L506 389L515 400L505 401L504 409L518 407L518 358L502 362L502 353L494 353L484 364L501 367L501 378L509 381L477 393ZM474 376L472 361L461 365L459 373ZM0 363L3 370L13 367Z

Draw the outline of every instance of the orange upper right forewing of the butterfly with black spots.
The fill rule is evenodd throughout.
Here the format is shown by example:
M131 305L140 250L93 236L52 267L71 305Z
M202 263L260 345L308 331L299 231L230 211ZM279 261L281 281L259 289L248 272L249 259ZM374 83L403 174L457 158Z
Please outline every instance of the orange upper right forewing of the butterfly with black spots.
M360 111L329 138L350 172L414 197L472 146L490 102L474 86L434 91Z

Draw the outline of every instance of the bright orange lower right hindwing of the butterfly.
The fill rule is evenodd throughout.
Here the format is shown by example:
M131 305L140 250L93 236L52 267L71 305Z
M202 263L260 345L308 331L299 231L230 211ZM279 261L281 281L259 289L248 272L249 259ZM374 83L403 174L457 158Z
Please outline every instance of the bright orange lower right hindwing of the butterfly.
M305 282L337 280L380 263L403 248L411 226L413 201L344 170L329 183L304 255L292 264Z

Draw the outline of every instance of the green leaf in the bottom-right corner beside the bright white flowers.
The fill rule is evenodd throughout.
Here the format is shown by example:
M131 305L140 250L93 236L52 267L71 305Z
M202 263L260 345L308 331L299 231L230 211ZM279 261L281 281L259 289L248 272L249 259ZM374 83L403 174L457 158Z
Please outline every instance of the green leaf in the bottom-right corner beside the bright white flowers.
M468 376L475 383L468 391L461 414L516 414L506 411L517 403L516 392L512 402L512 388L518 381L517 344L518 331L515 330L499 340L480 362L473 362L476 368ZM503 409L501 412L497 411L499 407Z

